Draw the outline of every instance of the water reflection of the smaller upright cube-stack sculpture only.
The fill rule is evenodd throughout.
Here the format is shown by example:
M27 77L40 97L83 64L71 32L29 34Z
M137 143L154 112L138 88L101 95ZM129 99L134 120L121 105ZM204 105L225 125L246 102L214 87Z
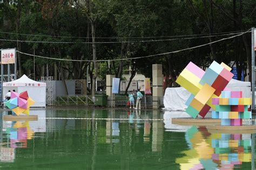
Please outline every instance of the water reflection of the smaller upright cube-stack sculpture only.
M251 162L251 134L224 134L220 138L212 139L214 154L212 160L219 164L219 168L234 168L242 162ZM254 152L254 151L253 151Z

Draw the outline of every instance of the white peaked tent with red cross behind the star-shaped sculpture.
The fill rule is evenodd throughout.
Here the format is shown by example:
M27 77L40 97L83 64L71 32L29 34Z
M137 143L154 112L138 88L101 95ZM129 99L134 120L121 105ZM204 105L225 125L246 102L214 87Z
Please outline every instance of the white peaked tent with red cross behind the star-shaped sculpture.
M16 90L17 93L27 90L29 97L36 102L32 107L45 107L46 83L33 81L24 74L17 80L3 83L3 98L8 90Z

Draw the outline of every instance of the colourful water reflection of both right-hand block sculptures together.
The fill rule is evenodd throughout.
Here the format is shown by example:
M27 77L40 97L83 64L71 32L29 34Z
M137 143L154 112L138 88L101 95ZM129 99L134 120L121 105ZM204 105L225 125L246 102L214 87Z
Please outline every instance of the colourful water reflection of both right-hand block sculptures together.
M211 133L192 126L185 133L189 150L177 158L180 169L251 168L251 134Z

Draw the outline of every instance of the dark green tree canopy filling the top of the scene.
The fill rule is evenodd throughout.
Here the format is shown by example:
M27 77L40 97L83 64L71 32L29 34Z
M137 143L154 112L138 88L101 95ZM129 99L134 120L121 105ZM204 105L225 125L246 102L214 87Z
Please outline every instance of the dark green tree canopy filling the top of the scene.
M86 79L87 68L93 81L95 75L122 78L129 66L151 77L152 64L160 63L172 86L189 61L206 68L213 60L234 61L240 79L242 69L251 70L251 32L191 47L247 31L255 16L256 2L241 0L4 0L0 48L22 52L19 76L35 79L46 75L46 65L55 80ZM24 53L61 60L35 57L34 70L33 56Z

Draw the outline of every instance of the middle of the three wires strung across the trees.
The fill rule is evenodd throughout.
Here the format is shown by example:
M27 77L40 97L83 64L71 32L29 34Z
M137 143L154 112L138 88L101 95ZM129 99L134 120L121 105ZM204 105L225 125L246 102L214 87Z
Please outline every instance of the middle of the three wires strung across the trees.
M250 31L251 32L251 31ZM219 36L230 36L239 33L222 34ZM95 42L95 44L117 44L117 43L131 43L131 42L158 42L158 41L174 41L174 40L187 40L187 39L198 39L208 37L219 37L219 36L203 36L203 37L188 37L188 38L174 38L174 39L160 39L160 40L140 40L140 41L103 41ZM30 41L30 40L11 40L11 39L0 39L1 41L15 41L15 42L33 42L33 43L51 43L51 44L92 44L93 42L66 42L66 41Z

